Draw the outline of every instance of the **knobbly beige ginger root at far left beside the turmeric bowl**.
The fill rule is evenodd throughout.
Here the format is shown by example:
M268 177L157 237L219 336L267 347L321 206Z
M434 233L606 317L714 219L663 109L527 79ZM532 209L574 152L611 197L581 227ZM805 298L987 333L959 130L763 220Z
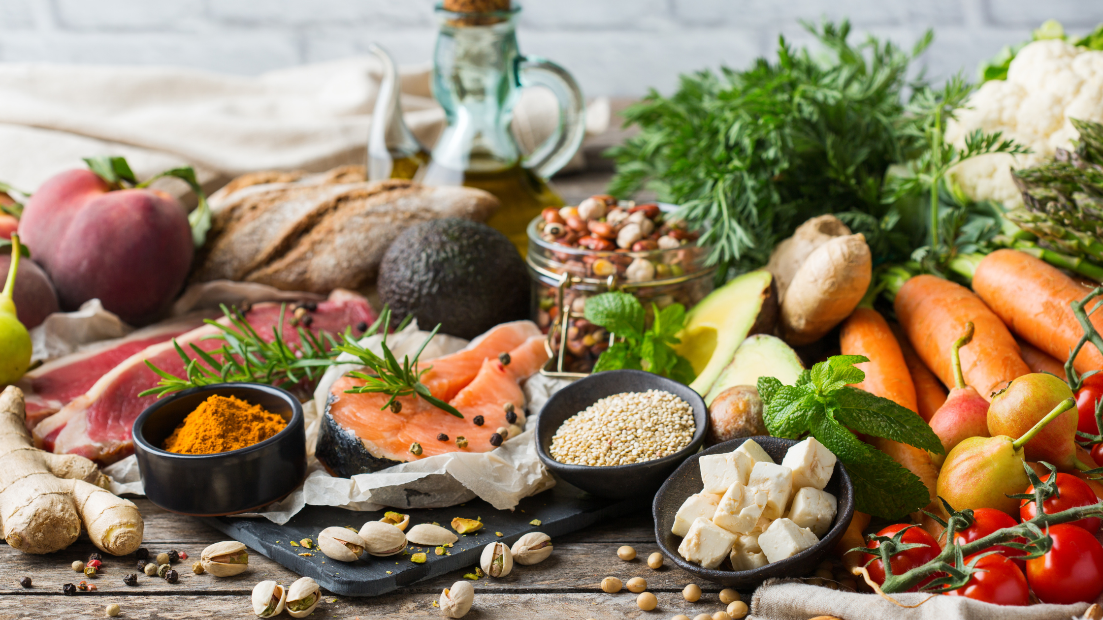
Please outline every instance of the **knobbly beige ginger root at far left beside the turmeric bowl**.
M0 523L3 537L24 553L64 549L81 534L113 555L133 553L142 538L138 506L106 489L107 477L77 455L33 447L23 392L0 394Z

